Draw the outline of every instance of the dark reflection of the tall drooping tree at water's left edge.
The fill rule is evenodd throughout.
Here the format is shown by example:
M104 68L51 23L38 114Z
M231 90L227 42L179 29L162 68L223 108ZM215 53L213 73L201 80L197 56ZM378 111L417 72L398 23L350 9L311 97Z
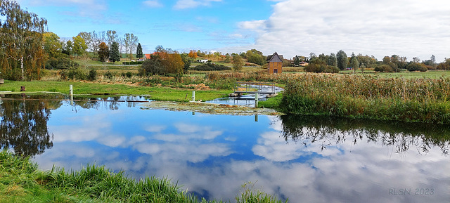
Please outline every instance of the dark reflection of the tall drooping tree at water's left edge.
M60 96L44 96L46 100L34 100L37 96L25 95L9 97L18 100L3 100L0 105L1 148L10 148L22 156L39 155L52 148L53 135L49 133L47 122L50 110L62 105L58 100Z

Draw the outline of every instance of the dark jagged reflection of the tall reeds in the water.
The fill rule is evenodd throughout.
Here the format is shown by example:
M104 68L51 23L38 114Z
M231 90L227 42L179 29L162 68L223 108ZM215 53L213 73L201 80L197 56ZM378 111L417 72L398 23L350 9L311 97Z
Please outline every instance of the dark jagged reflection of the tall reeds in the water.
M280 118L286 141L304 145L320 142L321 150L349 139L356 145L367 138L368 142L392 145L397 153L406 152L411 147L416 147L419 153L427 153L430 148L439 147L444 155L449 154L448 126L304 115L283 115Z

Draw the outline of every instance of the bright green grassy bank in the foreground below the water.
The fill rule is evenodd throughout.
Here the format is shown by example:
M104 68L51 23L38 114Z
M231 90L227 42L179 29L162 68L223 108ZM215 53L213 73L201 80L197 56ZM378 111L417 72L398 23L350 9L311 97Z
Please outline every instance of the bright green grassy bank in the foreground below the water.
M281 202L262 191L244 189L236 196L237 202ZM29 159L4 150L0 152L0 202L200 201L167 178L144 178L136 182L104 166L86 166L80 171L39 171L37 164Z

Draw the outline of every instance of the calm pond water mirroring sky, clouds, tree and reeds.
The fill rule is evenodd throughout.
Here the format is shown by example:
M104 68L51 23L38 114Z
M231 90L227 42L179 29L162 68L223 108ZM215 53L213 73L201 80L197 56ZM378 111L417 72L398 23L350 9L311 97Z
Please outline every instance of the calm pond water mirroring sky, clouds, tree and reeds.
M44 170L104 164L233 202L248 181L290 202L450 202L449 126L262 115L255 122L43 97L1 100L0 145Z

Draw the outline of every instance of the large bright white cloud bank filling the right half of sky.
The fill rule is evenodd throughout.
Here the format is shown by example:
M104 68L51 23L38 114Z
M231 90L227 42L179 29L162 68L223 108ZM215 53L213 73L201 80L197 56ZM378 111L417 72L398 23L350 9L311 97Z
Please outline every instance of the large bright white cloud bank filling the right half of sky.
M280 1L266 20L239 22L256 33L264 54L363 53L383 58L397 54L437 60L449 57L450 1Z

